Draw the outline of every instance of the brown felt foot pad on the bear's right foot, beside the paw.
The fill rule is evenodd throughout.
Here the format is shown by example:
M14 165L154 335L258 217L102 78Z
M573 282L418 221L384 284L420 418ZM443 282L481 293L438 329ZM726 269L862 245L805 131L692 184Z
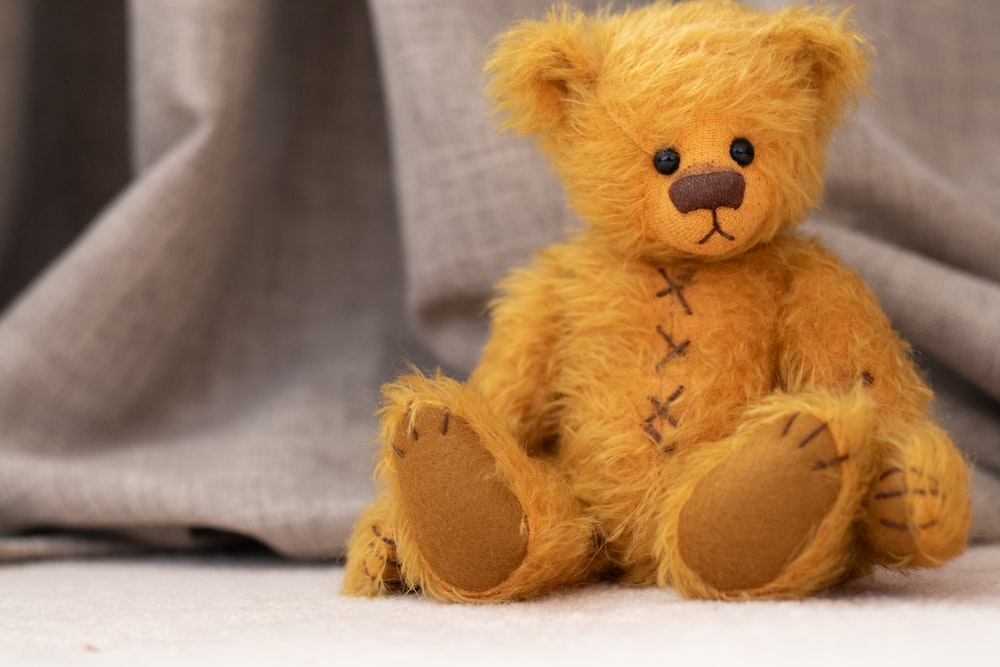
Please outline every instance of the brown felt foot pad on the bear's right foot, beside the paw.
M678 526L684 563L720 591L774 581L836 503L847 459L811 415L765 431L695 487Z

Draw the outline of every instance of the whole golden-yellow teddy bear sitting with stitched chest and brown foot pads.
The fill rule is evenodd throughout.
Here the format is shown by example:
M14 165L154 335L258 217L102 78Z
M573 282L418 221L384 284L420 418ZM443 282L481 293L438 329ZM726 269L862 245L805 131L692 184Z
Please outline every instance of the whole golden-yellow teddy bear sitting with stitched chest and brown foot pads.
M909 347L793 231L870 51L847 13L730 0L497 38L488 93L583 227L500 283L467 381L383 387L344 592L787 599L963 551L968 468Z

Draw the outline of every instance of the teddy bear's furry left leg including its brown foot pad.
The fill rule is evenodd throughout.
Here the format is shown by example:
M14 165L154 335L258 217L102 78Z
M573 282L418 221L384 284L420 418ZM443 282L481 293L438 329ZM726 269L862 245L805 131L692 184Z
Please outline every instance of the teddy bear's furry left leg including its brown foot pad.
M592 576L593 521L473 389L409 376L385 395L379 473L407 588L497 601Z

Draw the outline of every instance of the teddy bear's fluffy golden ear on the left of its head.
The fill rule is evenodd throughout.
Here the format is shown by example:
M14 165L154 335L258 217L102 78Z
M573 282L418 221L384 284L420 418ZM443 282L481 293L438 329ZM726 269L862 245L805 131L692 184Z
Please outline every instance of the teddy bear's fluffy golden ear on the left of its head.
M563 6L498 36L486 61L486 88L503 129L549 135L569 105L590 96L601 67L599 18Z

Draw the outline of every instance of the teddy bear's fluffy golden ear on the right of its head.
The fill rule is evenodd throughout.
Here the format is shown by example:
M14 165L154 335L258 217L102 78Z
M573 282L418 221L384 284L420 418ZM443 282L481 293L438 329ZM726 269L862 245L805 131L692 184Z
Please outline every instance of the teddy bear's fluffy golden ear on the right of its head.
M854 29L849 10L832 17L822 10L795 8L782 10L778 16L773 43L806 77L805 85L816 91L827 112L821 124L835 125L844 107L868 92L868 56L873 49Z

